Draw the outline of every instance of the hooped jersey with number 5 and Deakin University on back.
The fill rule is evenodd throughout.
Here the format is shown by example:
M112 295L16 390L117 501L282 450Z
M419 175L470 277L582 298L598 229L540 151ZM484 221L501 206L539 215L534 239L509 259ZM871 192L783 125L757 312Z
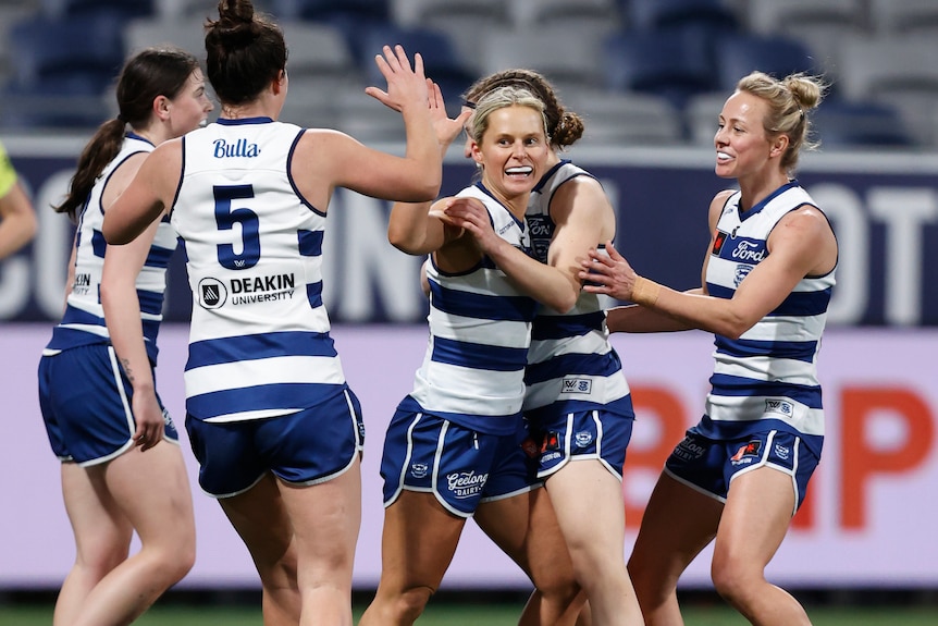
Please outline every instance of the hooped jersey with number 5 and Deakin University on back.
M183 137L171 221L193 292L185 383L197 419L285 415L346 386L322 304L325 211L289 175L303 133L221 119Z

